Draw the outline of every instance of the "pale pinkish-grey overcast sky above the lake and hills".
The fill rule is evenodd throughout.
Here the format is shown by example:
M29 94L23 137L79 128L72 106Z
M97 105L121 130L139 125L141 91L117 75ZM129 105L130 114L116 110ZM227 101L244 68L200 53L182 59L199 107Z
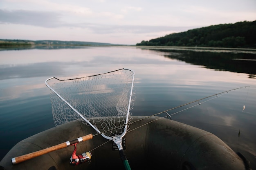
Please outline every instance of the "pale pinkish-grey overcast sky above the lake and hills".
M0 0L0 39L135 45L256 20L256 0Z

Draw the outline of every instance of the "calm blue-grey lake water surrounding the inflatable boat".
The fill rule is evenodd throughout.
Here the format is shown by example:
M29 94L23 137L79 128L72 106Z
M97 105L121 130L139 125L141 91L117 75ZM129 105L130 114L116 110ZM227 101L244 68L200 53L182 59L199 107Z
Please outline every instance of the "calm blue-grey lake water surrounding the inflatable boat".
M22 139L54 127L50 90L45 85L47 78L76 78L121 68L135 72L137 98L131 110L134 116L156 114L249 85L188 110L184 109L196 103L168 113L184 110L172 119L215 134L235 152L241 152L256 169L256 50L247 49L40 47L1 50L0 159Z

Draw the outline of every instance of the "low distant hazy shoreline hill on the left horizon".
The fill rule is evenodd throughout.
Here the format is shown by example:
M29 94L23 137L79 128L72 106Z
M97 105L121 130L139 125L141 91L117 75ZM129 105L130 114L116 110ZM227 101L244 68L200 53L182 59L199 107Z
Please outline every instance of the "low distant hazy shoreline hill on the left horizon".
M0 39L0 47L31 46L31 45L113 45L101 42L58 41L58 40L8 40Z

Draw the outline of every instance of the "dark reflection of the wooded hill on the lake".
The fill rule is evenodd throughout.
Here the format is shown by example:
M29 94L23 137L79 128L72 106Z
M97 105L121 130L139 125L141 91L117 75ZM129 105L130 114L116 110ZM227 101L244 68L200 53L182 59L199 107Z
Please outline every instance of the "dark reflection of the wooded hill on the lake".
M193 65L203 65L209 69L216 69L220 71L229 71L236 73L249 74L249 78L254 78L256 74L256 53L243 53L236 51L236 53L228 53L220 50L182 50L180 49L150 49L156 51L166 52L164 56L167 58L177 59Z

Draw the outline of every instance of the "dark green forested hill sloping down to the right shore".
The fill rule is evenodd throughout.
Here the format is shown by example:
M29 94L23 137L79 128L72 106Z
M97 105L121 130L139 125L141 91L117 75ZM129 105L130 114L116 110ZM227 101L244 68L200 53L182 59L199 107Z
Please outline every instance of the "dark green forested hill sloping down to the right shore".
M173 33L137 45L189 47L256 47L256 20L220 24Z

